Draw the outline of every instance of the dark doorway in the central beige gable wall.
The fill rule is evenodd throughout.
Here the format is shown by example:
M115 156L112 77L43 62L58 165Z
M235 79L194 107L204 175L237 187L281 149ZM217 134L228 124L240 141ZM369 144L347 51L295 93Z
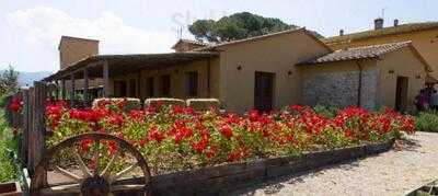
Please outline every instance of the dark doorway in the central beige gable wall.
M254 107L261 112L273 109L275 73L255 72Z

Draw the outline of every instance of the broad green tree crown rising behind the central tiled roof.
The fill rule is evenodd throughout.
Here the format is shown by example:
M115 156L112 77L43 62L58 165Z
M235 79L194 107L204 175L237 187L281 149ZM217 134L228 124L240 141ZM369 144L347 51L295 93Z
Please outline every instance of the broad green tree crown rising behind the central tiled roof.
M218 21L197 20L188 25L188 31L195 35L196 39L228 42L298 27L297 25L286 24L279 19L241 12L223 16ZM323 37L316 32L311 33L316 37Z

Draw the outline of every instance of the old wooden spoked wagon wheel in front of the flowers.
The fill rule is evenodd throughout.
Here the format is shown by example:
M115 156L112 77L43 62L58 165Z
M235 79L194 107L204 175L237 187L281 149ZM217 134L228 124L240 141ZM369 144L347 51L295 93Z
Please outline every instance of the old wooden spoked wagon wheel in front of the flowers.
M82 141L94 141L97 146L92 151L92 159L96 161L97 164L94 166L95 169L90 170L90 166L87 166L81 155L78 153L76 149L72 150L72 155L74 158L74 162L78 164L78 168L82 175L78 175L73 172L68 171L67 169L62 169L58 165L54 166L54 169L73 181L72 183L67 184L49 184L47 182L47 172L49 171L50 160L58 153L60 153L65 149L74 148L76 145ZM102 159L102 148L100 148L100 143L103 141L111 141L116 145L116 152L112 154L111 159L108 159L106 166L101 166L99 161ZM91 151L91 150L90 150ZM112 173L113 168L117 159L120 159L120 153L127 152L132 155L135 159L135 163L129 166L124 166L122 171L117 173ZM120 177L125 176L127 173L131 172L134 169L140 169L143 176L136 177L134 180L119 181ZM59 145L50 148L47 151L47 154L43 160L38 163L35 169L34 176L31 181L31 194L32 195L59 195L59 194L76 194L76 195L114 195L114 193L127 192L127 191L136 191L143 193L142 195L150 195L150 184L151 184L151 175L148 168L148 164L141 153L132 147L127 141L106 134L99 132L90 132L78 135L71 138L68 138L60 142Z

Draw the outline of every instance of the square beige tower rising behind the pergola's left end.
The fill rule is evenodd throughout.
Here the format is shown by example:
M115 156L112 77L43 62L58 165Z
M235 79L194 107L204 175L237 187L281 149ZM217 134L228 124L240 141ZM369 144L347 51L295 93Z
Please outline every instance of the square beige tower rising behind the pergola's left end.
M79 60L99 55L99 41L62 36L58 50L60 69L64 69Z

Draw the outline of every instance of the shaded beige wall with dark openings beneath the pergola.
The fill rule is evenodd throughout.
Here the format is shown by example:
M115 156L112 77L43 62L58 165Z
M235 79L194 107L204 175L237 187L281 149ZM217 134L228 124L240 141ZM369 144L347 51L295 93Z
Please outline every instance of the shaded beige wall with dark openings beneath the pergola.
M155 69L143 69L140 72L127 76L115 77L114 83L120 80L127 81L127 91L129 91L129 80L137 80L139 88L136 90L136 96L140 99L149 97L147 90L147 79L154 78L154 97L160 97L160 77L171 76L171 97L188 99L186 74L188 71L198 72L198 96L208 97L208 61L210 64L210 97L219 97L219 59L199 60L187 65L175 65ZM114 89L114 95L118 95L118 90Z

